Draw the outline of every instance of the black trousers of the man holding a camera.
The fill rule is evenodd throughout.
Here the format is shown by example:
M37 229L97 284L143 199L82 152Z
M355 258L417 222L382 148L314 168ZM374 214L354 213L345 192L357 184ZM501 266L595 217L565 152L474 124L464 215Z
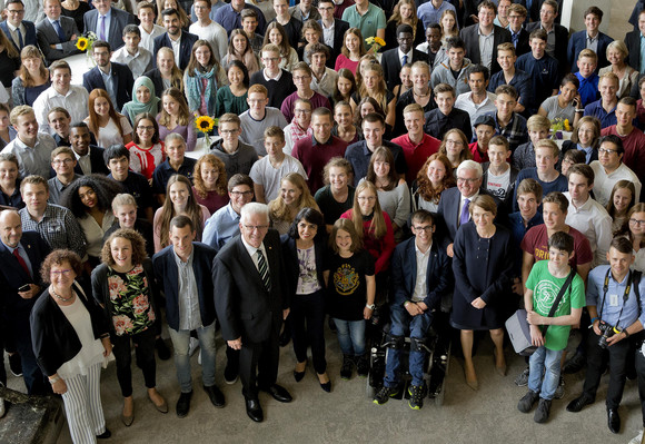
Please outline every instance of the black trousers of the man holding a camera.
M609 387L607 388L607 408L618 408L625 388L627 354L632 347L631 341L623 339L603 349L598 346L601 336L589 330L587 336L587 374L583 393L591 399L596 398L601 377L609 362Z

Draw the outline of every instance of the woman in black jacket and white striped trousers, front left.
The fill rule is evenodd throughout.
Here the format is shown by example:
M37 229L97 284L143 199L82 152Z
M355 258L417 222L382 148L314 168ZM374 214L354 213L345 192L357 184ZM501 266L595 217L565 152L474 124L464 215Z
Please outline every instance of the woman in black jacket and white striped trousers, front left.
M36 302L30 324L33 354L53 393L62 395L72 441L90 443L111 436L100 384L112 345L100 307L75 280L81 269L73 251L47 256L40 273L50 286Z

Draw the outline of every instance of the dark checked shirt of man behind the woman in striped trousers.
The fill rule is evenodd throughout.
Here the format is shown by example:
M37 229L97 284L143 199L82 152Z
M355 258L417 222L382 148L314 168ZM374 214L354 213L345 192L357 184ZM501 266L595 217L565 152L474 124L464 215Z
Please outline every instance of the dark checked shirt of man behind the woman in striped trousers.
M51 249L71 249L81 259L85 257L86 237L69 209L59 205L48 204L40 221L32 219L27 208L22 208L18 213L24 231L40 233Z

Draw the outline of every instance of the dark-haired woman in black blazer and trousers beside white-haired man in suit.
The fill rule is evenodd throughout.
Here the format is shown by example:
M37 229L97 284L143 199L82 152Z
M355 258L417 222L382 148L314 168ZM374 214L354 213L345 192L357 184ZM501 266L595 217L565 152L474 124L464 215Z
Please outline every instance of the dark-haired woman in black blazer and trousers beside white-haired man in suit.
M331 391L325 359L325 280L322 257L325 254L325 218L320 211L302 208L282 235L282 254L287 269L288 292L291 298L291 336L296 353L294 377L297 382L307 368L307 344L311 345L314 369L320 387Z

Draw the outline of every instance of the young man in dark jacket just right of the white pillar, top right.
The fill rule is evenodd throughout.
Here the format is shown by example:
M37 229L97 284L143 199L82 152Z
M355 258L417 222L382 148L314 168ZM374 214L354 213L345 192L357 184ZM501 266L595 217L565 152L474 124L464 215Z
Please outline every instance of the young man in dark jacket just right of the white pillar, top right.
M609 65L607 61L607 47L614 39L604 32L598 30L601 22L603 21L603 10L598 7L589 7L585 11L585 30L574 32L569 39L569 46L567 49L568 63L572 68L572 72L578 71L578 66L576 61L578 60L578 55L583 49L589 48L596 52L598 56L598 65L596 67L596 72L601 68L605 68ZM593 40L592 45L595 45L595 49L588 47L589 39Z

